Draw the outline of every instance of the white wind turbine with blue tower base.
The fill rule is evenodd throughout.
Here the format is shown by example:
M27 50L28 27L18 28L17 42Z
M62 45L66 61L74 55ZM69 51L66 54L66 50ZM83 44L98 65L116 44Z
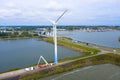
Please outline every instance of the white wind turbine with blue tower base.
M54 63L57 64L58 63L58 56L57 56L57 22L61 19L61 17L67 12L67 10L65 10L57 19L56 21L50 20L49 21L52 23L53 25L53 40L54 40Z

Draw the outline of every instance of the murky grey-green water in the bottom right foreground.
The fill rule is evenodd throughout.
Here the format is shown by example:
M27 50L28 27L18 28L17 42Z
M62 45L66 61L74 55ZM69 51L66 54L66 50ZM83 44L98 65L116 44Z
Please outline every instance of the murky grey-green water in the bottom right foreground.
M88 66L39 80L120 80L120 67L112 64Z

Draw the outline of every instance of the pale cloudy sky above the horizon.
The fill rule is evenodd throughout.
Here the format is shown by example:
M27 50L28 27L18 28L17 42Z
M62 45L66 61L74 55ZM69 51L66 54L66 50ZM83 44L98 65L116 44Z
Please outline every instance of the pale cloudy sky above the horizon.
M120 0L0 0L0 25L120 25Z

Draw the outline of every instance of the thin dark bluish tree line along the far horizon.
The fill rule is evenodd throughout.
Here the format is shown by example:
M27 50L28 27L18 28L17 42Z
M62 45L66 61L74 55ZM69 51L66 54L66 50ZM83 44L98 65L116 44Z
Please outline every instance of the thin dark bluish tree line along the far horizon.
M0 27L4 27L4 26L0 26ZM6 26L6 27L13 27L16 30L33 30L36 28L52 28L52 26ZM76 26L57 26L58 29L67 29L67 30L78 30L78 29L83 29L83 28L91 28L91 29L100 29L100 28L104 28L104 29L115 29L115 30L120 30L120 26L105 26L105 25L99 25L99 26L80 26L80 25L76 25Z

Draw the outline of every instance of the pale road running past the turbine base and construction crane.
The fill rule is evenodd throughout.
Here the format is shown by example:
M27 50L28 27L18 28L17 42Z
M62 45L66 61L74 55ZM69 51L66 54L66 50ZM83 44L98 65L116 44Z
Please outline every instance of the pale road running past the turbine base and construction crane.
M98 56L98 55L101 55L101 54L96 54L96 55L91 55L91 56L87 56L87 57L82 57L82 58L75 59L75 60L69 60L69 61L58 63L56 65L48 66L48 67L45 67L45 68L37 68L36 66L34 66L35 69L34 70L30 70L30 71L26 71L25 69L20 69L20 70L16 70L16 71L2 73L2 74L0 74L0 80L13 80L12 78L19 77L20 75L23 75L23 74L38 72L38 71L41 71L41 70L44 70L44 69L48 69L48 68L51 68L51 67L56 67L56 66L68 64L68 63L71 63L71 62L74 62L74 61L77 61L77 60L82 60L82 59L86 59L86 58L90 58L90 57L94 57L94 56Z

